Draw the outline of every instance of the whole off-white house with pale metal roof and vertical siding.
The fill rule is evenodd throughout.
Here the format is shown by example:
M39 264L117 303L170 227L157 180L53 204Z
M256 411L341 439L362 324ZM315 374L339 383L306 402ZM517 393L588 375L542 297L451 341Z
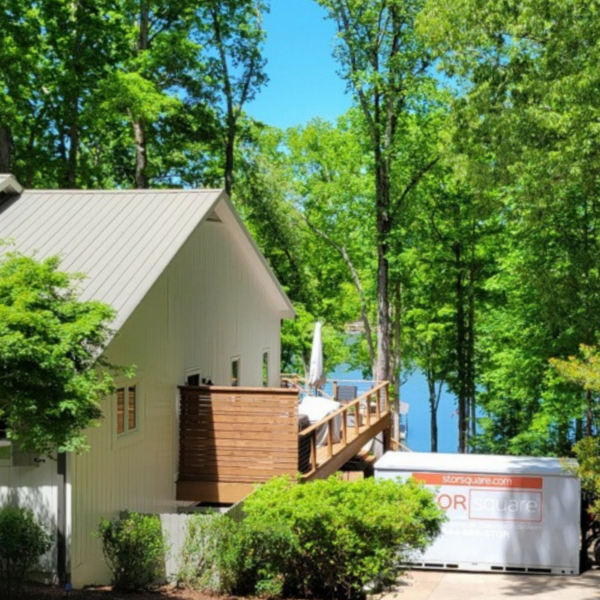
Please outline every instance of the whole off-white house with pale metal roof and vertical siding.
M136 367L104 400L89 452L58 468L0 460L0 505L32 506L64 527L58 560L73 585L107 582L91 535L100 518L181 504L177 386L278 386L280 324L294 311L220 190L24 190L0 175L0 239L84 273L81 298L117 311L106 356Z

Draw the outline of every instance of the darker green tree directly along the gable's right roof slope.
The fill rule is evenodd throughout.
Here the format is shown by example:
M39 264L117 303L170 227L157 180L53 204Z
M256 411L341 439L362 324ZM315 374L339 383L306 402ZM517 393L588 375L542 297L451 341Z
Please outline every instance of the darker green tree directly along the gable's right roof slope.
M298 314L283 323L282 368L307 372L318 319L325 322L327 368L334 368L347 360L343 328L356 318L355 296L339 256L303 218L298 189L306 162L297 158L300 134L256 125L249 131L238 146L234 202Z

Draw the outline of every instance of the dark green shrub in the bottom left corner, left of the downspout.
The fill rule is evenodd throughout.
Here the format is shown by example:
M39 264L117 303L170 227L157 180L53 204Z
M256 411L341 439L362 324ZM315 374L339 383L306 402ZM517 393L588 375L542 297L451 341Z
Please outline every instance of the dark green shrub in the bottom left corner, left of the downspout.
M19 590L50 546L50 536L32 511L13 506L0 509L0 588L6 597Z

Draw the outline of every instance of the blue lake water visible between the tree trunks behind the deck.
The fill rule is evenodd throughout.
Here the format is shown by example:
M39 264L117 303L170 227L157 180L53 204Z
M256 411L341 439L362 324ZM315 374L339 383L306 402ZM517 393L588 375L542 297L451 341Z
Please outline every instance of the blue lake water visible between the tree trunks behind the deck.
M360 371L347 371L344 365L338 367L327 376L325 391L331 393L333 381L361 381ZM358 392L367 391L369 385L358 385ZM364 389L361 389L364 388ZM400 397L402 402L410 405L408 412L408 435L405 444L413 452L429 452L431 450L431 431L429 413L429 392L425 376L417 371L402 386ZM458 449L458 417L455 397L444 390L438 407L438 451L457 452Z

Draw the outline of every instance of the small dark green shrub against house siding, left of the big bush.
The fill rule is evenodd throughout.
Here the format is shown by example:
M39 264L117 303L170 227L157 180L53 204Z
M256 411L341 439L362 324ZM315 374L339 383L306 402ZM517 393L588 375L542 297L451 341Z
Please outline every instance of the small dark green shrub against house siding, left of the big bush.
M98 537L115 589L139 590L164 578L167 543L158 516L128 513L102 519Z

